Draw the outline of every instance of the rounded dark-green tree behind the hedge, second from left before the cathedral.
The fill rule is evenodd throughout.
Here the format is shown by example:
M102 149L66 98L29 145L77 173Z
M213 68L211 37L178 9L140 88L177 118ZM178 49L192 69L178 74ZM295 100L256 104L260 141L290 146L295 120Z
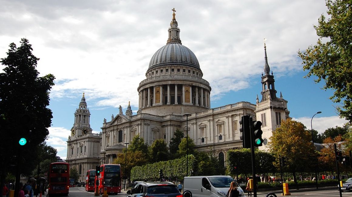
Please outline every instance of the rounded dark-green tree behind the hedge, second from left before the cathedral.
M168 147L163 139L156 139L149 146L149 157L152 163L168 160Z

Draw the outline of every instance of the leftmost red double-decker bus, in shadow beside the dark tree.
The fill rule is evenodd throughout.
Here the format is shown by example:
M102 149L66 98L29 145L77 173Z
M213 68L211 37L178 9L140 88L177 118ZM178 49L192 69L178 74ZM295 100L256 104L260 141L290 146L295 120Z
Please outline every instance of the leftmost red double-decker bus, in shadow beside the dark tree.
M69 164L64 162L51 163L49 166L49 186L48 194L63 194L68 195L70 185Z

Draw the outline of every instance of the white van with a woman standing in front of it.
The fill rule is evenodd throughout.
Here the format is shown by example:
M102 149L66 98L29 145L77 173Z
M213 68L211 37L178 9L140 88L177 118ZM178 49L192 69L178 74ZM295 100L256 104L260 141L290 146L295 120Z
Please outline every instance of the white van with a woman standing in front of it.
M231 176L184 177L183 197L226 197L233 181L235 182ZM238 184L237 190L240 193L240 197L245 197L242 188Z

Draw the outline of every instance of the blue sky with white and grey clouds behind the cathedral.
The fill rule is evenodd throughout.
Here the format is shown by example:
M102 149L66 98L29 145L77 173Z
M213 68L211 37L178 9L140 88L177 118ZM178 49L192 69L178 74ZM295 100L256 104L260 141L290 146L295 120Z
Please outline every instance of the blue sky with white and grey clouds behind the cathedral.
M342 126L329 100L332 90L304 78L304 51L318 40L314 25L326 15L325 1L281 0L0 0L0 58L21 38L40 58L40 76L54 74L50 92L53 112L48 145L65 159L74 112L83 92L90 126L101 131L103 119L138 110L139 82L152 55L166 44L172 8L182 44L194 52L203 79L212 87L211 106L261 98L264 38L279 97L288 100L290 117L320 133ZM4 66L0 65L0 70Z

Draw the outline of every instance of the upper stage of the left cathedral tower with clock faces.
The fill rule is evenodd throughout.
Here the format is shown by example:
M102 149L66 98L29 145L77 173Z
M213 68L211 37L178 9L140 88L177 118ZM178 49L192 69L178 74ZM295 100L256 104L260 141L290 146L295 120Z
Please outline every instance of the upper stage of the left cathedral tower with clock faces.
M71 128L71 137L81 136L87 133L92 133L92 129L89 124L90 112L87 108L86 98L84 93L81 102L75 112L75 122Z

